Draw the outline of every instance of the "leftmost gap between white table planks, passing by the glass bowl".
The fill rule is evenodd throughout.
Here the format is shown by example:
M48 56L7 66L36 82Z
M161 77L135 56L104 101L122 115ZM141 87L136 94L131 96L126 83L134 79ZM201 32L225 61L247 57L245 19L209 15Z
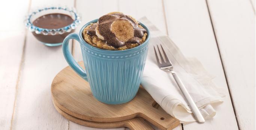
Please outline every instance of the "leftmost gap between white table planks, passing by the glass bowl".
M31 7L31 0L29 0L27 12L29 12L30 7ZM24 38L24 43L22 46L21 62L19 63L18 78L17 78L16 86L15 86L15 98L14 98L13 109L12 109L12 118L10 121L10 130L12 130L13 118L15 115L15 107L16 107L16 101L17 101L18 90L19 90L19 81L20 81L21 71L24 66L24 61L25 61L25 47L26 47L26 42L27 42L27 32L28 32L27 29L25 29L25 36L24 36L25 38Z

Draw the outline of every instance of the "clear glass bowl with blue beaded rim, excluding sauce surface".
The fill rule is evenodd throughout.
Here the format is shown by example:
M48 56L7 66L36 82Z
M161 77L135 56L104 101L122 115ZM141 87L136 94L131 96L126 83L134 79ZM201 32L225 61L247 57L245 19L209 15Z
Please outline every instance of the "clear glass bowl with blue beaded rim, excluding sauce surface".
M39 17L41 19L44 19L47 14L49 14L49 16L51 17L54 16L51 14L60 14L60 16L61 14L65 14L67 16L70 16L73 19L73 22L67 26L63 26L60 28L42 28L33 24L34 20L38 19ZM49 19L45 19L44 21L47 22L47 20ZM76 13L74 8L69 9L67 7L52 6L33 11L25 17L24 23L28 30L30 30L30 32L32 32L32 34L35 36L35 38L42 42L44 45L59 46L62 45L64 38L68 34L74 32L80 22L80 16Z

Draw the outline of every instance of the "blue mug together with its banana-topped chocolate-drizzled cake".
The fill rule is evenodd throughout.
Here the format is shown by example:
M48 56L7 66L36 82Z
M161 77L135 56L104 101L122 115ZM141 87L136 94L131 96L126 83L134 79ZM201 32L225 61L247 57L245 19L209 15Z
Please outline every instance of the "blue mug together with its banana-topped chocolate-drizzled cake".
M70 52L71 39L80 43L85 69ZM63 53L71 68L89 82L98 101L122 104L131 101L138 92L149 39L150 30L143 23L112 12L86 23L79 33L68 35L63 41Z

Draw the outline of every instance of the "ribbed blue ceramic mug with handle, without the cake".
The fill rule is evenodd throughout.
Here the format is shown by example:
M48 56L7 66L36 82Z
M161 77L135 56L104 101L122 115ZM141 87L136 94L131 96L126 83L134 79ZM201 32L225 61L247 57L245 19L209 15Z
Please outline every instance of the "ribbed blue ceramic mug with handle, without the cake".
M64 39L65 59L80 77L89 81L92 94L97 100L106 104L127 103L135 97L140 86L149 46L149 29L140 23L147 30L147 39L140 46L123 51L110 51L91 46L83 39L83 29L97 21L95 19L86 23L79 34L71 33ZM69 51L70 39L80 43L85 70L77 64Z

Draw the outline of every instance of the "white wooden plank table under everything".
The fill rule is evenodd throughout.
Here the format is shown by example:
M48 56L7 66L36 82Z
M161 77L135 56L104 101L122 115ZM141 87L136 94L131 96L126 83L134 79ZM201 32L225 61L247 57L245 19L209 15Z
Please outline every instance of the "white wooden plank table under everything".
M108 12L146 16L226 89L214 118L180 124L176 130L255 130L254 0L1 1L0 130L95 130L63 118L52 104L52 79L67 62L61 46L40 44L23 25L29 10L47 5L76 7L82 14L76 31ZM70 47L81 61L79 44Z

